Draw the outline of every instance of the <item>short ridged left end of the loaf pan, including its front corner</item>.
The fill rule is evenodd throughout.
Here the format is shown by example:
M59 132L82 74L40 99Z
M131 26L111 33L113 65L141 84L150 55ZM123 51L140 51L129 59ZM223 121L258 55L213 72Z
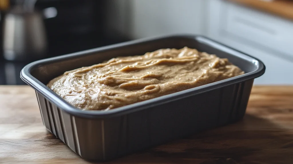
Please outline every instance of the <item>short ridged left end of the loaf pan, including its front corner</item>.
M103 120L72 116L36 92L43 123L70 149L85 159L104 160Z

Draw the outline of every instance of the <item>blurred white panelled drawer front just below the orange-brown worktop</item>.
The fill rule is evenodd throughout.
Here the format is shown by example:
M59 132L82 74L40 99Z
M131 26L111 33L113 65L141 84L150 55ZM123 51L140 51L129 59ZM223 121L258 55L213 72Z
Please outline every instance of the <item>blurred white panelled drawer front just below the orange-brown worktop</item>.
M222 30L251 46L280 52L293 61L293 22L233 3L223 6Z

